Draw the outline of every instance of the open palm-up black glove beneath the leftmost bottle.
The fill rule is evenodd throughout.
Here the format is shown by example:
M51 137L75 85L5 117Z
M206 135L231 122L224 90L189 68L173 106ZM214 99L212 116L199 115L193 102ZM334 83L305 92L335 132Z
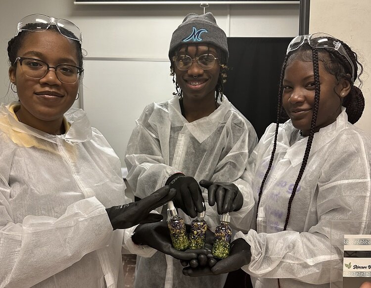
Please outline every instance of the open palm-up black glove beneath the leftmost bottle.
M165 221L140 224L134 230L132 240L138 245L148 245L158 251L173 256L176 259L192 260L198 254L206 254L205 249L187 249L179 251L173 247L168 223Z

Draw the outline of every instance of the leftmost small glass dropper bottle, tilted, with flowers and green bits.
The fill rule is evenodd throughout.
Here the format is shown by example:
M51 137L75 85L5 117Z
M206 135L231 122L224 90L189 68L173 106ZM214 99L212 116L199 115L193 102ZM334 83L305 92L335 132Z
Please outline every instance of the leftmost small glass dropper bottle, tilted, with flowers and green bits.
M178 216L177 209L174 207L173 201L168 202L168 227L171 240L175 249L184 251L189 246L185 223L182 217Z

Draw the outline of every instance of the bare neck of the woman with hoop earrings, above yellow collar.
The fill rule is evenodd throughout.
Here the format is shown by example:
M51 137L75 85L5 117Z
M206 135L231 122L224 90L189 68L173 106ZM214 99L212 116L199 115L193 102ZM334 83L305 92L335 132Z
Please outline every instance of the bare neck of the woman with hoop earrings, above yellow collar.
M15 115L17 116L19 122L46 132L47 134L61 135L65 133L63 117L60 119L44 121L34 117L31 113L26 111L26 109L22 109L22 107L15 111Z

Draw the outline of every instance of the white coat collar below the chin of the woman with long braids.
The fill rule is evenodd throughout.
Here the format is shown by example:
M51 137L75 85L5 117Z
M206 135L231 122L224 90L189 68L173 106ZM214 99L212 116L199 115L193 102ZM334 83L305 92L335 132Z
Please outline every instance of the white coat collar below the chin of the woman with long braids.
M340 131L344 130L348 126L348 115L345 112L345 107L342 107L342 112L337 116L336 121L330 125L321 128L320 131L315 133L310 154L314 154L317 150L323 147L325 144L334 139ZM296 166L303 162L303 156L305 148L308 143L308 137L305 137L298 142L294 143L291 147L289 145L290 135L294 131L294 126L291 120L285 122L282 127L279 128L282 135L281 141L277 141L276 152L287 150L284 158L290 160L292 166ZM280 143L279 143L280 142Z

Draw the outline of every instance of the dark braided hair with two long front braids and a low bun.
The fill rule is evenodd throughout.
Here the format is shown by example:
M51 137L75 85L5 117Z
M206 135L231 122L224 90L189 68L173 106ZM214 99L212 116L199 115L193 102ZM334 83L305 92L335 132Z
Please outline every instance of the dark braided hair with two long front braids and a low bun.
M336 39L334 39L336 40ZM336 40L338 41L338 40ZM341 42L341 41L340 41ZM358 79L360 82L360 85L362 85L362 81L360 79L360 75L363 73L363 66L358 61L357 54L352 51L351 48L349 48L348 45L341 42L343 47L345 48L347 54L351 58L355 71L354 75L355 78ZM278 89L278 109L277 109L277 121L276 121L276 132L275 132L275 138L274 138L274 144L273 144L273 150L271 154L271 158L268 164L267 171L263 177L262 184L260 186L259 194L258 194L258 202L257 202L257 211L259 209L260 200L263 194L263 188L264 184L268 178L269 172L272 168L276 147L277 147L277 138L278 138L278 127L279 123L281 123L282 118L287 119L287 114L282 109L282 93L283 93L283 77L285 73L286 66L291 63L294 59L300 59L303 61L312 61L313 62L313 72L314 72L314 79L315 79L315 96L314 96L314 106L313 106L313 116L311 121L311 128L308 136L308 142L307 146L305 148L303 161L299 170L299 174L296 178L294 187L292 189L291 196L288 201L288 207L287 207L287 215L286 220L284 224L283 231L287 229L288 221L290 218L290 212L291 212L291 204L295 197L296 190L298 188L299 182L303 176L305 167L308 162L310 150L312 147L312 142L314 138L314 134L316 132L316 121L317 121L317 115L318 115L318 109L319 109L319 102L320 102L320 74L319 74L319 61L322 61L325 67L325 70L336 77L338 81L341 79L348 80L351 84L353 84L353 79L351 79L352 75L352 67L350 63L348 62L347 58L340 54L338 51L331 49L331 48L312 48L309 46L308 43L304 43L299 48L290 51L282 64L281 68L281 74L280 74L280 80L279 80L279 89ZM360 73L358 73L358 67L360 67ZM354 80L356 80L354 79ZM339 96L340 98L340 96ZM347 96L344 97L342 105L346 107L346 113L348 115L348 121L352 124L356 123L365 108L365 98L362 94L362 91L356 87L354 84L352 85L352 88ZM256 218L257 220L257 218Z

